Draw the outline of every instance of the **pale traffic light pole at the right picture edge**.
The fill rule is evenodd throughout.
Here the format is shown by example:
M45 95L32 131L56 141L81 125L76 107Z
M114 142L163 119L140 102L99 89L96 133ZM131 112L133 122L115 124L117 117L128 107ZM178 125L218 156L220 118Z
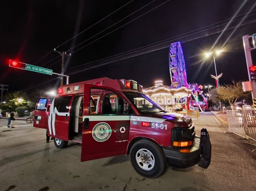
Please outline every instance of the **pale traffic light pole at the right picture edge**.
M249 35L243 36L243 44L244 44L244 53L245 53L245 59L246 59L246 64L247 64L247 69L248 69L249 81L251 82L252 102L253 102L254 109L256 110L256 82L251 80L250 71L249 71L249 67L253 66L252 59L251 59L251 50L255 49L255 48L250 47L249 38L251 38L251 37L252 36L249 36Z

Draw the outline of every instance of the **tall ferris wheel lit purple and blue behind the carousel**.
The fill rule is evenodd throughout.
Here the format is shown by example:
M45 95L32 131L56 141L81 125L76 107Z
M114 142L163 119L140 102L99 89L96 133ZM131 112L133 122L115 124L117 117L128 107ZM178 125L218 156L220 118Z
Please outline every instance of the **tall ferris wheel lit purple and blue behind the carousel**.
M171 76L171 87L188 88L187 73L181 42L171 43L169 51L169 68Z

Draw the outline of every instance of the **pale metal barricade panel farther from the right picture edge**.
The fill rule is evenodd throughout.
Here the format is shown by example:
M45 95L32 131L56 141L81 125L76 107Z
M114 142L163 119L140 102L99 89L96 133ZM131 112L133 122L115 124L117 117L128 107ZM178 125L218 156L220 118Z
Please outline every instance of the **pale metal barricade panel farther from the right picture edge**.
M248 138L243 125L243 116L241 111L227 110L228 129L243 138Z

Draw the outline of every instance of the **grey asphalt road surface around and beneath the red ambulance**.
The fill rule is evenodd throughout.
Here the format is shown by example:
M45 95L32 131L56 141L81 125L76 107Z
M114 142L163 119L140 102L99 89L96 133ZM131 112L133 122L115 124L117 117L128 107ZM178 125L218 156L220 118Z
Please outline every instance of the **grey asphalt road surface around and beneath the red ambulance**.
M15 128L6 128L0 119L0 191L219 191L256 190L255 147L244 144L210 112L194 119L197 134L207 128L212 144L208 169L194 166L168 168L156 179L135 172L129 156L115 156L80 162L81 145L69 142L58 149L46 143L45 130L17 120Z

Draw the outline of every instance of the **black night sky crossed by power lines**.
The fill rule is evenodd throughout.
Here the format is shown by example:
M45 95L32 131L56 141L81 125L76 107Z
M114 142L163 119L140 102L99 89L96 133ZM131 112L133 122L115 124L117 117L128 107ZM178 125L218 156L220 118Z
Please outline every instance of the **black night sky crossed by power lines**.
M8 67L12 59L61 73L54 48L72 54L65 57L69 83L106 76L170 86L169 46L177 41L188 83L215 85L213 57L203 53L222 47L220 84L248 81L242 37L256 33L255 0L9 0L0 14L0 84L9 91L56 90L58 75Z

